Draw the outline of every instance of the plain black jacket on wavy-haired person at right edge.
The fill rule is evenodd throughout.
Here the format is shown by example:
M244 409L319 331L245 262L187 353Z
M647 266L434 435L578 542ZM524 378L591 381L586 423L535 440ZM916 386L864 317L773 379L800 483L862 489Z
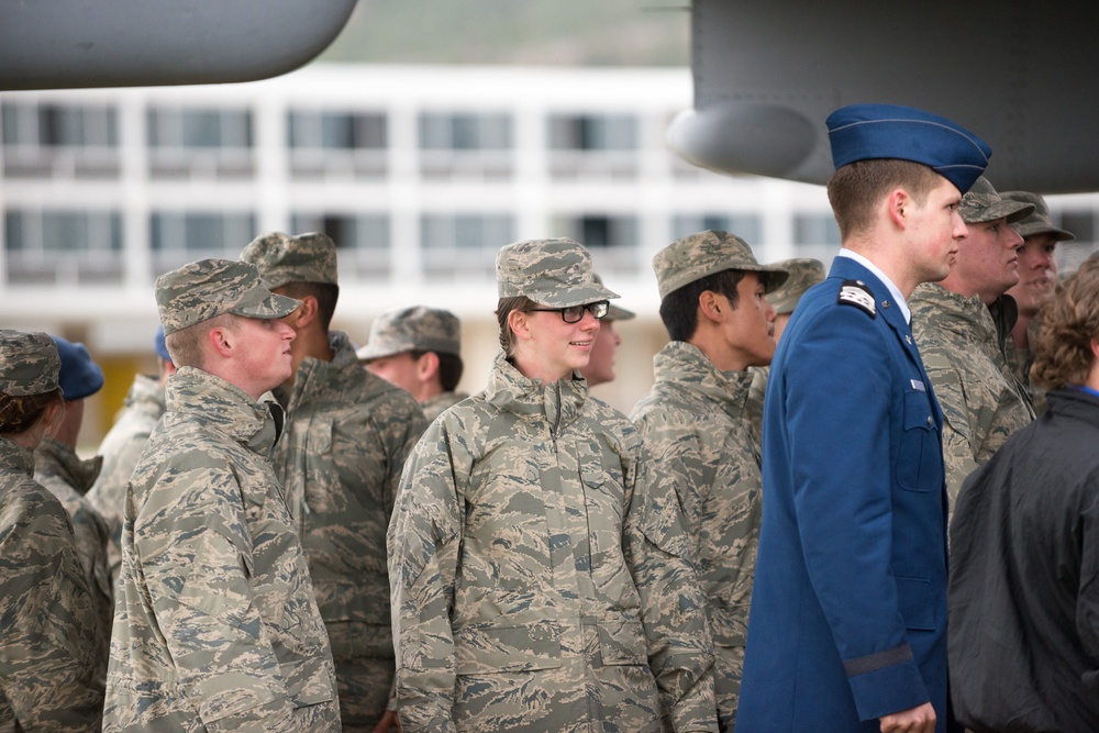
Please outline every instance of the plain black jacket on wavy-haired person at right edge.
M1099 399L1048 403L951 524L951 691L975 731L1099 731Z

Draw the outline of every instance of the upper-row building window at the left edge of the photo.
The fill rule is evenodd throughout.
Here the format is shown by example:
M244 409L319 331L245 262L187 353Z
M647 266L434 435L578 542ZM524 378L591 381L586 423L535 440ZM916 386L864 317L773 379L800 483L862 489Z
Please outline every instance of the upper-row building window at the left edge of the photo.
M119 114L109 104L0 103L3 175L99 178L119 175Z

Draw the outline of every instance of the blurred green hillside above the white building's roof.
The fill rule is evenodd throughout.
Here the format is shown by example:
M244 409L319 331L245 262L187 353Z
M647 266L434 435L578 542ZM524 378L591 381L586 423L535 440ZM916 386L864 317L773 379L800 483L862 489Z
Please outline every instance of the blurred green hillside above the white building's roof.
M686 66L688 0L358 0L319 60Z

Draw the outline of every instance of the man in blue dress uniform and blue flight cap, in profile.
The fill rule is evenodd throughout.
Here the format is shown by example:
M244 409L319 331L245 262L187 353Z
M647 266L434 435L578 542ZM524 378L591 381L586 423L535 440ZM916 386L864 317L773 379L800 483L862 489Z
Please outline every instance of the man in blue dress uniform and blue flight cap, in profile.
M990 151L904 107L828 127L843 249L771 364L736 730L946 731L942 413L906 298L948 274Z

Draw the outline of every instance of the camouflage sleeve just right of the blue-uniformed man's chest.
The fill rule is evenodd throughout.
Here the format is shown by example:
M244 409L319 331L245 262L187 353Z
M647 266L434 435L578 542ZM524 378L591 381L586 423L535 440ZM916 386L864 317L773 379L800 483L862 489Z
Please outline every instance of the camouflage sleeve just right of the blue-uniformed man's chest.
M946 491L953 513L962 484L977 469L977 446L966 403L965 379L946 353L932 346L928 354L923 354L922 348L921 345L923 366L943 411L943 462L946 464Z

